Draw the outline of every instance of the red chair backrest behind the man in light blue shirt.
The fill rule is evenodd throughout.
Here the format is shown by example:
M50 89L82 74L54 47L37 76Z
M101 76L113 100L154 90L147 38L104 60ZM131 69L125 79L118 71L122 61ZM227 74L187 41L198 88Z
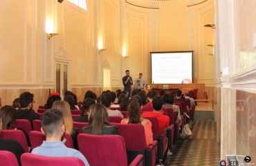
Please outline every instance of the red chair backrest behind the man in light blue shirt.
M84 166L84 162L80 158L76 157L48 157L39 156L36 154L25 153L21 155L22 166Z

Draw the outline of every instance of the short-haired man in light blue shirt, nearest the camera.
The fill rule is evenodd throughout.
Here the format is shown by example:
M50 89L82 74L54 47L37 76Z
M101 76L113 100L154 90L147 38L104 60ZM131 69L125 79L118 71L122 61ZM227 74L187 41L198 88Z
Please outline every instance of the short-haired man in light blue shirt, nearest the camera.
M62 112L57 109L48 109L41 117L41 131L46 135L46 140L40 147L31 151L32 154L53 157L77 157L84 165L89 165L86 158L76 149L68 148L62 142L65 134L64 118Z

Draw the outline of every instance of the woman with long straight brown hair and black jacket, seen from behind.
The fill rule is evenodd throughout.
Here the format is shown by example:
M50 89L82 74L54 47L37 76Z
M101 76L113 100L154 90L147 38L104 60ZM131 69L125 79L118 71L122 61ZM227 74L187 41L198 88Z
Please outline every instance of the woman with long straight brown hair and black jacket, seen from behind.
M119 135L118 127L109 123L107 109L100 103L91 105L89 109L89 126L83 127L82 133Z

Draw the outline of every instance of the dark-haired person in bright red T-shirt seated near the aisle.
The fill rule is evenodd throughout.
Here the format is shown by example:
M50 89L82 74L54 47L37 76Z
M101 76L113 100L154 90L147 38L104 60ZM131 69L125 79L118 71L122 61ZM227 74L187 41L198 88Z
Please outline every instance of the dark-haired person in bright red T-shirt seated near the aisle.
M152 100L153 111L143 113L143 116L154 116L158 121L158 134L165 133L169 127L170 118L163 115L163 99L160 96L155 96Z

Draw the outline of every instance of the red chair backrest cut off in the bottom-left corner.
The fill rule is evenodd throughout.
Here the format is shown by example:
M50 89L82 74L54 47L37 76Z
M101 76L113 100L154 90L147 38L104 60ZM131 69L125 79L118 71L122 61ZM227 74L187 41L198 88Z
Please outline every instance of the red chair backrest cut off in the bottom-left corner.
M19 166L15 154L10 151L0 151L0 165Z

